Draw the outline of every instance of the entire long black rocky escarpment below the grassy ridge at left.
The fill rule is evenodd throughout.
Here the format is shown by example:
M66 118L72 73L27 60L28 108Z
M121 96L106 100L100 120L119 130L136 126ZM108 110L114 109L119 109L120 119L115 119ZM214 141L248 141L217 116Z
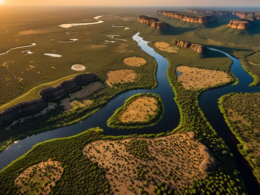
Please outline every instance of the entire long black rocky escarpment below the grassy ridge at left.
M0 124L11 122L30 113L40 112L47 107L47 101L62 99L78 90L81 85L87 85L98 78L92 73L76 75L73 79L63 81L57 86L48 87L39 92L41 99L20 102L12 107L0 111Z

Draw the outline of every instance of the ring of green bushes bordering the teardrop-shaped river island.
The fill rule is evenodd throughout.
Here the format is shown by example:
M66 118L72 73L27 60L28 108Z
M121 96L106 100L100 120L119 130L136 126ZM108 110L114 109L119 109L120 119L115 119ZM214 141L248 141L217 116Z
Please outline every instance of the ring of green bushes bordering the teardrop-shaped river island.
M146 114L145 120L143 120L143 121L134 121L134 119L133 119L132 121L129 121L129 122L122 122L122 120L120 118L122 113L126 112L129 105L132 104L132 102L135 101L136 99L138 99L139 97L153 97L156 99L157 109L154 110L155 114L153 114L153 115ZM138 106L139 105L137 105L136 107L138 107ZM148 106L148 105L144 104L144 106ZM140 109L141 108L142 108L142 106L140 107ZM143 109L138 110L136 112L143 112ZM159 122L160 119L162 118L163 113L164 113L164 105L162 103L162 99L160 98L160 96L158 94L139 93L139 94L135 94L135 95L129 97L125 101L125 104L115 111L115 113L107 120L107 126L112 127L112 128L118 128L118 129L143 128L143 127L154 125L157 122ZM138 115L138 113L137 113L137 115ZM130 117L130 116L128 116L128 117Z

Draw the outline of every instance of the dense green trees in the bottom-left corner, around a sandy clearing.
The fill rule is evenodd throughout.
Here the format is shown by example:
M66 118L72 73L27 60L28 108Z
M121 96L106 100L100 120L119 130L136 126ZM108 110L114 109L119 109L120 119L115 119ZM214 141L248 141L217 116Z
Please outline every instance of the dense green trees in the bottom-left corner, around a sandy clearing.
M106 170L99 168L97 163L82 153L87 143L102 138L102 132L102 129L92 128L69 138L35 145L0 172L0 194L20 194L20 189L14 185L17 174L49 158L59 161L64 168L51 194L107 194L109 183L105 178Z

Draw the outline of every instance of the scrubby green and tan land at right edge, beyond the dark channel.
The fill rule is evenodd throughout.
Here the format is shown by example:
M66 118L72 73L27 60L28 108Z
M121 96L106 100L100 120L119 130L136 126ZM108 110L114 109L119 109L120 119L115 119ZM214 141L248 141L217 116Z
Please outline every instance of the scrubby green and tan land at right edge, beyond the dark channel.
M238 150L260 181L260 93L231 93L219 99L219 108L236 139Z

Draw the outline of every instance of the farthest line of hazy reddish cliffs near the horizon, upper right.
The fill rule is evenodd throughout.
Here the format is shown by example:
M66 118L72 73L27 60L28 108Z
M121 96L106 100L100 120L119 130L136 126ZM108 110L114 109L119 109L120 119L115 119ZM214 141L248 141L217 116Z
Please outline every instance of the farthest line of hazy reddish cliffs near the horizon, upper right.
M194 14L214 14L216 16L238 16L240 18L247 18L253 16L260 16L259 12L239 12L239 11L209 11L209 10L195 10L195 9L185 9L187 12Z

